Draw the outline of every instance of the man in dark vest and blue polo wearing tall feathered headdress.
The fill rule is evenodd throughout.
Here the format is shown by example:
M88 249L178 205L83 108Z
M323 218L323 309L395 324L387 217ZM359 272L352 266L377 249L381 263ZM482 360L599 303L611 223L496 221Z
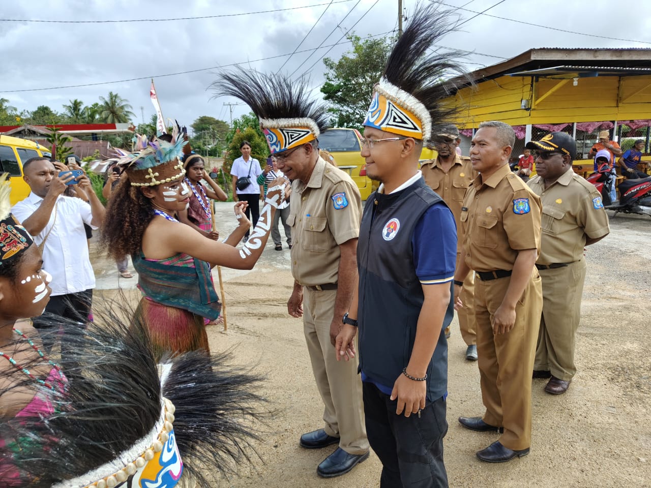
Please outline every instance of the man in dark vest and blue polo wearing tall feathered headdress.
M413 77L438 62L425 54L439 21L432 8L415 14L374 88L361 156L368 176L382 184L363 213L359 288L335 345L337 359L352 357L359 323L367 436L383 465L381 488L448 486L443 330L453 314L456 225L419 170L423 139L440 120L445 90L438 83L445 82Z

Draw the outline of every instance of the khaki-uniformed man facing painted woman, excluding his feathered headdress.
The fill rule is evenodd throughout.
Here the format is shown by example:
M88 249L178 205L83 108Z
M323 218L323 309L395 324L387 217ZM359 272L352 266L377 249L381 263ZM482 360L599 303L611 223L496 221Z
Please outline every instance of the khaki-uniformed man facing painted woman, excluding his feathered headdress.
M303 147L307 146L313 148ZM331 477L368 457L358 360L337 361L333 348L357 286L361 198L350 176L326 163L316 149L309 154L303 148L297 152L304 153L301 160L292 154L291 160L281 157L278 164L294 180L288 218L294 241L294 291L287 305L290 315L303 316L325 422L322 429L303 434L300 443L305 448L339 443L317 470L320 476Z

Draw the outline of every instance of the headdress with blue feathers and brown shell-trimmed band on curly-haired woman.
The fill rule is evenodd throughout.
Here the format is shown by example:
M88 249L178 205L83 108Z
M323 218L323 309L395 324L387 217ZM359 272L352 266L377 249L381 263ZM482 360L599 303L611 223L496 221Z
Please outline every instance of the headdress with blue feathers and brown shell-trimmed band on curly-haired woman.
M126 170L132 186L156 186L178 180L186 174L180 158L187 144L187 131L178 122L174 123L171 138L164 134L149 140L146 135L136 134L134 139L133 154L116 150L120 156L118 165Z

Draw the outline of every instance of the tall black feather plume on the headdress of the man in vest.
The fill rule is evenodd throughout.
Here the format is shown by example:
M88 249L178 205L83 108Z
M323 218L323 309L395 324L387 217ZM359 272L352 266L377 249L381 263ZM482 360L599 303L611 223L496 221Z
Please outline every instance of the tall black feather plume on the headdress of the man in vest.
M458 111L441 101L454 94L457 87L471 84L471 81L456 61L463 56L462 51L432 51L445 34L456 29L456 21L452 20L454 12L438 10L436 3L421 3L414 12L393 46L382 77L425 105L432 117L432 133L424 137L432 139L433 135L441 133L441 126L454 122L451 118Z

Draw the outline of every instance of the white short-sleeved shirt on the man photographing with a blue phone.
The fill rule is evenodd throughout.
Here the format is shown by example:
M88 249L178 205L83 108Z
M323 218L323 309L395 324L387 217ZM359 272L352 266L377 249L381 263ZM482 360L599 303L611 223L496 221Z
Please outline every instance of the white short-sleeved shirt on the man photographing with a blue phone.
M12 208L12 213L19 222L28 217L40 207L43 198L35 193L18 202ZM34 237L36 245L40 245L48 236L43 249L43 269L52 275L52 296L77 293L79 291L95 288L95 273L90 265L86 231L83 224L91 228L97 227L90 224L92 213L90 205L75 197L61 196L57 200L48 224ZM49 230L52 229L52 232ZM49 235L48 235L49 232Z

